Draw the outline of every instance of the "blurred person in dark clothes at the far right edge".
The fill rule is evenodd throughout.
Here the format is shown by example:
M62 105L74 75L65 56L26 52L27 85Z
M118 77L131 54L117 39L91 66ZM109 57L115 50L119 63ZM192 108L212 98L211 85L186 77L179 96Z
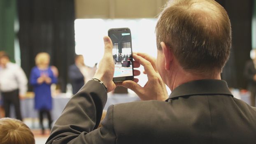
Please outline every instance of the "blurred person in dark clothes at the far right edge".
M251 106L255 107L256 95L256 49L251 50L251 60L245 63L244 76L248 81L247 89L251 92Z

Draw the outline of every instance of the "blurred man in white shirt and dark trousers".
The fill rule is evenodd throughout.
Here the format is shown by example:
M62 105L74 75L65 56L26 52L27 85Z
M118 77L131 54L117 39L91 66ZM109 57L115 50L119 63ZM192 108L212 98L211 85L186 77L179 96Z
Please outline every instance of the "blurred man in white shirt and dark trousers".
M22 121L20 97L27 91L28 79L18 65L11 63L5 53L0 56L0 91L2 93L5 117L9 117L10 105L14 105L16 118Z

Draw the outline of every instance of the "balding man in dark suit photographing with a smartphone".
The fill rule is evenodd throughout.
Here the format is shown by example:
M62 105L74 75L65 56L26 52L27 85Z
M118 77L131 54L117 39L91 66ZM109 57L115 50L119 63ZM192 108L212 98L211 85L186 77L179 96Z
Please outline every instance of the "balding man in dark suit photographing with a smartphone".
M138 79L120 84L143 101L110 106L96 129L107 92L119 85L112 81L112 42L104 37L96 79L68 102L47 144L255 144L256 109L233 98L220 80L231 45L223 7L214 0L171 0L159 16L156 38L156 61L133 53L134 67L144 66L146 85Z

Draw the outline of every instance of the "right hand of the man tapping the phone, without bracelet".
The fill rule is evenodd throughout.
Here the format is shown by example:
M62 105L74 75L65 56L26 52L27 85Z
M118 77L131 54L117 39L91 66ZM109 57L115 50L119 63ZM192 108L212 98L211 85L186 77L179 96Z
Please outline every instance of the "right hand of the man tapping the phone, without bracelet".
M156 59L145 53L133 53L133 58L136 63L144 67L144 73L147 74L148 81L144 87L130 80L123 81L121 85L133 90L141 100L166 100L168 93L165 83L156 70Z

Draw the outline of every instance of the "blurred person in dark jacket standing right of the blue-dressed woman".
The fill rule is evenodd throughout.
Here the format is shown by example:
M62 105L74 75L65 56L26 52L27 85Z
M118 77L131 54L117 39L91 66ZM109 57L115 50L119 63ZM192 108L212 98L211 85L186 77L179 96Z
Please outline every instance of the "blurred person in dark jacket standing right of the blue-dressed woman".
M75 63L70 65L68 70L68 76L72 85L72 93L75 94L84 84L89 81L96 71L96 65L94 67L88 67L84 64L84 56L76 55Z

